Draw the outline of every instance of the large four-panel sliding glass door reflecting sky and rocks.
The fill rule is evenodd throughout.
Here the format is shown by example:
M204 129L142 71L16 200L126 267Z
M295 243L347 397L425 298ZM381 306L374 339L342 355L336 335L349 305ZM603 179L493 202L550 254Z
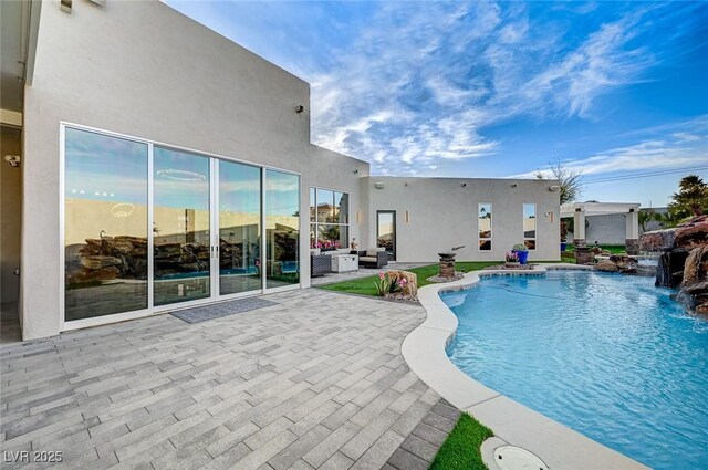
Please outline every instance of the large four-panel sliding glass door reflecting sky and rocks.
M62 138L65 322L299 284L298 175L73 126Z

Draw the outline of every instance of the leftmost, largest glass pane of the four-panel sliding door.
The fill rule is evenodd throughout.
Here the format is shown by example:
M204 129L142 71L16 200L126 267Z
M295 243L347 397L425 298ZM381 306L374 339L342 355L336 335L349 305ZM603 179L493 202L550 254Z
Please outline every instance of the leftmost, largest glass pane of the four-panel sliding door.
M66 127L64 317L147 307L147 145Z

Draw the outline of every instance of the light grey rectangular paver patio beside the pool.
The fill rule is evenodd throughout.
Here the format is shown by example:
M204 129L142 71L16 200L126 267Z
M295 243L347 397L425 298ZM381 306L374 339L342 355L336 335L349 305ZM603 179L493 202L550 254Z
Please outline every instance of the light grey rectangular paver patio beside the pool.
M3 344L2 450L62 451L71 469L427 468L457 411L400 355L425 311L263 299L277 305Z

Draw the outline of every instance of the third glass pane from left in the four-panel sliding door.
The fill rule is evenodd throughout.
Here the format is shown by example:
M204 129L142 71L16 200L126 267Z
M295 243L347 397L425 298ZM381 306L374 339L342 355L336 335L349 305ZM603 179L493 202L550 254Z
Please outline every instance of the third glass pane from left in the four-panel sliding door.
M261 289L261 170L219 161L219 293Z

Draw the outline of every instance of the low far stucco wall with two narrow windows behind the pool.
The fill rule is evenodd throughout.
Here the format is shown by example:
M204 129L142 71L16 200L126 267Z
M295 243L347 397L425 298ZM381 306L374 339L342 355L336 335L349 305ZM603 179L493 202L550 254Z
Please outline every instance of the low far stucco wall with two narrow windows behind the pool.
M383 182L383 189L376 189ZM466 185L462 187L462 185ZM513 186L516 185L516 186ZM376 211L396 211L397 261L438 260L437 252L465 244L457 259L503 260L514 243L523 242L523 205L537 205L537 249L531 261L560 259L559 192L550 180L471 178L363 178L368 189L365 205L367 246L376 242ZM363 189L362 189L363 190ZM480 251L477 211L492 203L492 250ZM363 203L364 206L364 203ZM408 211L408 223L405 211ZM548 216L546 216L548 215ZM365 247L366 248L366 247Z

